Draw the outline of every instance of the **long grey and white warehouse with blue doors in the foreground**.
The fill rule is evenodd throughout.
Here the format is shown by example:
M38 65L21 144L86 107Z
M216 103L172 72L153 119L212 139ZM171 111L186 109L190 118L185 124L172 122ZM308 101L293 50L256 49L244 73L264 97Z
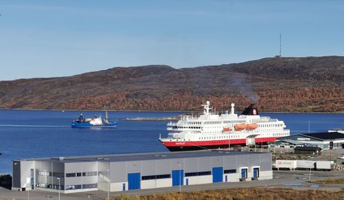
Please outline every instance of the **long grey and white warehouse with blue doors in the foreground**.
M270 153L184 151L12 161L12 190L118 192L272 179Z

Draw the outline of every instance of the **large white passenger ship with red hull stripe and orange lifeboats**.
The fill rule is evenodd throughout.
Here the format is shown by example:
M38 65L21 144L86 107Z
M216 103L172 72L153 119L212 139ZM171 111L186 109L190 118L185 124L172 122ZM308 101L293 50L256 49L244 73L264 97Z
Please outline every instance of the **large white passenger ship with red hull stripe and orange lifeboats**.
M169 151L266 144L290 135L283 121L260 116L255 104L250 104L239 116L233 103L230 113L221 115L211 113L209 101L202 106L200 117L185 115L178 122L167 124L167 131L171 132L159 140Z

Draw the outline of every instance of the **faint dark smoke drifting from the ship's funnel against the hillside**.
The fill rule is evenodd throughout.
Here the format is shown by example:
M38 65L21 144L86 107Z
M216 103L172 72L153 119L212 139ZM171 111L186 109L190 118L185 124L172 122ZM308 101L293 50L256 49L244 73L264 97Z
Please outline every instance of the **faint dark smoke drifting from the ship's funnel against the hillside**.
M236 76L233 76L232 78L233 85L237 87L240 90L240 93L243 96L246 96L248 99L251 100L251 103L257 104L259 101L259 96L255 91L253 91L251 85L246 82L246 79L241 74L237 74Z

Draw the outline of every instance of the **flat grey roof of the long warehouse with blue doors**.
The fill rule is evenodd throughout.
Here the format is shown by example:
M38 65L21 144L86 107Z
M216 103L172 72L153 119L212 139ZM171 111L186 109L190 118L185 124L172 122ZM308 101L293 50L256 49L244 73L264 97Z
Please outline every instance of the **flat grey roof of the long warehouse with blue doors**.
M246 151L219 151L219 150L200 150L200 151L178 151L178 152L158 152L158 153L131 153L131 154L114 154L114 155L90 155L76 157L51 157L38 159L19 159L19 161L51 161L51 162L126 162L142 161L152 159L182 159L188 157L213 157L222 155L252 155L266 154L259 152Z

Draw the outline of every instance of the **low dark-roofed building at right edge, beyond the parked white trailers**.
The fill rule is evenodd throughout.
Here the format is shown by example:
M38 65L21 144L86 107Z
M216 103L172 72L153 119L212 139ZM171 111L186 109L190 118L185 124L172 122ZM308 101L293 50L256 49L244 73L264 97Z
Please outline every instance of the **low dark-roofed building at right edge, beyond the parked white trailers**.
M294 148L296 146L312 146L321 149L344 148L344 131L329 131L324 133L304 133L281 137L276 142L270 142L282 148Z

